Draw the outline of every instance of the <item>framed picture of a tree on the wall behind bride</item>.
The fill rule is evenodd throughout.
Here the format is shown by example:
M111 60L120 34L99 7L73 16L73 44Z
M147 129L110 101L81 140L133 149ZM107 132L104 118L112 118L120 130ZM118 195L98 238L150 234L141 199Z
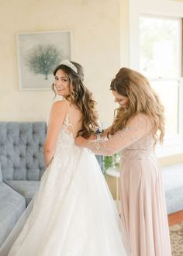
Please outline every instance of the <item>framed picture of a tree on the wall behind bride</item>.
M71 31L18 33L19 88L47 90L53 71L64 60L72 60Z

